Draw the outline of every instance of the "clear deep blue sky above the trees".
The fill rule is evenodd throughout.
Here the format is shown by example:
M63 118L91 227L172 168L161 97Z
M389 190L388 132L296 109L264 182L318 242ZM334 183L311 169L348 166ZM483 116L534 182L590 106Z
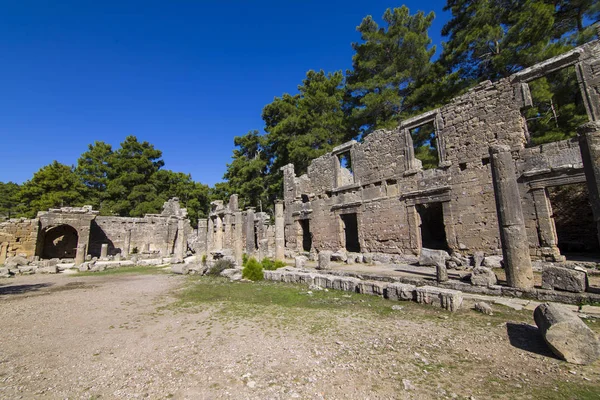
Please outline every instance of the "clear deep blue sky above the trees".
M0 181L135 135L213 185L233 137L262 131L264 105L309 69L350 68L362 18L402 4L0 0ZM436 13L439 43L445 1L404 4Z

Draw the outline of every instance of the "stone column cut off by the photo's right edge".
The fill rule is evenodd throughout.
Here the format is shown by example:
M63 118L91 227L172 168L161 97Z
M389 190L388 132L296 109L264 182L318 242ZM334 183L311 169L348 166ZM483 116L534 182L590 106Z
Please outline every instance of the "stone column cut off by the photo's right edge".
M600 121L583 124L578 130L583 170L600 241Z

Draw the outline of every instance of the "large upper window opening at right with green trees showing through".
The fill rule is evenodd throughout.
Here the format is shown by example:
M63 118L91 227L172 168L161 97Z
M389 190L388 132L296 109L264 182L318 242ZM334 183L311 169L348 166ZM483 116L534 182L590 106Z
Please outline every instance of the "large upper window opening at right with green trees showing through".
M522 109L529 145L557 142L577 135L588 121L575 67L551 72L528 83L531 106Z

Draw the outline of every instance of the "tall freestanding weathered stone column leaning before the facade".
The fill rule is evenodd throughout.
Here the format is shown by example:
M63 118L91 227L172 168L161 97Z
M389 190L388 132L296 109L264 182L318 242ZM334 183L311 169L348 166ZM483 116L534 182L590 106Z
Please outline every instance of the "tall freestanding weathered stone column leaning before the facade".
M510 147L491 146L490 160L506 281L514 288L531 289L533 269Z

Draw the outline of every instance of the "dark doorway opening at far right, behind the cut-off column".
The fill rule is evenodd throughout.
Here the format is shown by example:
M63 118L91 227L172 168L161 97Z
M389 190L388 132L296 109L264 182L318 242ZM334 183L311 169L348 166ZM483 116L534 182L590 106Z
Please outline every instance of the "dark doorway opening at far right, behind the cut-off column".
M577 183L547 188L558 248L565 254L599 254L598 229L594 222L587 185Z

